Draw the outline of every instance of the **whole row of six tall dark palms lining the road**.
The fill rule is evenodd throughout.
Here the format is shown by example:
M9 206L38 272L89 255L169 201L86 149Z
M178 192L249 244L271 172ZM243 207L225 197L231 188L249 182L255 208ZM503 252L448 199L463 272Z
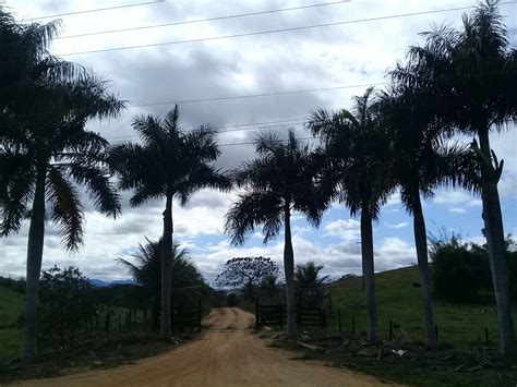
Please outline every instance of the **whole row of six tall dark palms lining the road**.
M497 182L503 162L490 148L489 131L516 120L516 50L496 4L481 4L464 17L462 29L442 27L410 47L406 63L388 74L384 92L369 88L351 111L316 110L306 129L321 146L311 149L289 131L287 141L261 134L256 157L225 173L213 167L220 152L211 126L184 131L176 106L164 119L136 117L141 143L109 144L86 131L92 118L116 117L124 101L110 94L92 71L52 57L47 47L56 24L20 25L0 12L0 232L16 232L29 217L27 292L23 358L35 355L35 312L41 268L45 219L61 226L67 249L83 234L77 184L85 185L97 209L121 211L118 189L132 190L131 205L165 198L161 242L160 336L170 337L170 256L175 198L185 205L202 188L239 197L226 216L226 231L242 244L256 227L264 242L284 227L287 332L296 335L294 256L290 219L304 214L317 226L338 201L361 216L363 274L369 338L377 339L372 222L387 197L399 190L413 215L428 344L436 347L425 223L421 196L441 185L481 192L492 278L500 316L502 351L513 349L504 230ZM8 74L7 76L3 76ZM514 81L512 81L514 80ZM470 146L454 143L457 133L479 138ZM110 179L118 177L118 186ZM31 210L27 214L27 209Z

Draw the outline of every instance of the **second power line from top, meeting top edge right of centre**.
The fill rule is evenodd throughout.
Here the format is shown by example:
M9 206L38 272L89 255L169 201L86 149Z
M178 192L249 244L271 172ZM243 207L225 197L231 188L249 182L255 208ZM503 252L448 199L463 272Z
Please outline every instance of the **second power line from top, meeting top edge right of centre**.
M337 5L350 2L351 0L341 0L341 1L333 1L333 2L324 2L324 3L316 3L316 4L309 4L309 5L300 5L300 7L290 7L290 8L280 8L275 10L267 10L267 11L257 11L257 12L248 12L248 13L238 13L233 15L225 15L225 16L214 16L214 17L206 17L206 19L195 19L190 21L182 21L182 22L171 22L171 23L164 23L164 24L154 24L154 25L145 25L140 27L128 27L128 28L120 28L120 29L107 29L107 31L99 31L94 33L84 33L84 34L76 34L76 35L65 35L57 37L56 39L71 39L71 38L79 38L85 36L95 36L95 35L105 35L105 34L116 34L116 33L125 33L130 31L142 31L142 29L152 29L152 28L163 28L169 26L178 26L178 25L185 25L185 24L195 24L195 23L203 23L203 22L214 22L214 21L221 21L221 20L229 20L229 19L238 19L238 17L247 17L247 16L257 16L270 13L278 13L278 12L287 12L287 11L294 11L294 10L304 10L310 8L317 8L317 7L327 7L327 5Z

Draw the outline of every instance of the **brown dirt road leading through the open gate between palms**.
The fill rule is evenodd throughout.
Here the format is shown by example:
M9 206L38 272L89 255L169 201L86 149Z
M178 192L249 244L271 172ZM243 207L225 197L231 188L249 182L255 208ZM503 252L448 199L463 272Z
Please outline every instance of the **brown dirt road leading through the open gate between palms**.
M254 316L236 307L213 310L203 337L169 353L115 370L92 371L32 386L376 386L372 377L290 360L248 328Z

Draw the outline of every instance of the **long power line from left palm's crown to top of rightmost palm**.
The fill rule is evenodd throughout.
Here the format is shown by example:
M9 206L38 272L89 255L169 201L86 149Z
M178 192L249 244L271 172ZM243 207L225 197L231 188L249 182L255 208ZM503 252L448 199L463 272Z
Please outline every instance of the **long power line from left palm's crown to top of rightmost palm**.
M516 4L516 3L517 3L517 1L506 1L506 2L501 2L498 5L507 5L507 4ZM58 53L57 56L58 57L71 57L71 56L79 56L79 55L133 50L133 49L139 49L139 48L148 48L148 47L160 47L160 46L183 45L183 44L200 43L200 41L221 40L221 39L229 39L229 38L237 38L237 37L244 37L244 36L256 36L256 35L266 35L266 34L286 33L286 32L292 32L292 31L312 29L312 28L321 28L321 27L332 27L332 26L352 24L352 23L364 23L364 22L389 20L389 19L409 17L409 16L425 15L425 14L441 13L441 12L462 11L462 10L469 10L469 9L474 9L474 8L476 8L476 5L469 5L469 7L448 8L448 9L432 10L432 11L400 13L400 14L395 14L395 15L385 15L385 16L368 17L368 19L357 19L357 20L351 20L351 21L342 21L342 22L334 22L334 23L311 24L311 25L304 25L304 26L298 26L298 27L288 27L288 28L265 29L265 31L256 31L256 32L251 32L251 33L220 35L220 36L212 36L212 37L187 39L187 40L173 40L173 41L164 41L164 43L155 43L155 44L147 44L147 45L135 45L135 46L125 46L125 47L105 48L105 49L98 49L98 50L64 52L64 53Z

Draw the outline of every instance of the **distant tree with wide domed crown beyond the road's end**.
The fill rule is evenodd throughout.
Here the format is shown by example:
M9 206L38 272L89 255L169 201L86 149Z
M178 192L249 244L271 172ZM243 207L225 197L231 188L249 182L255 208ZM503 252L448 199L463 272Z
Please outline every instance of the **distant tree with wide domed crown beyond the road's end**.
M256 288L266 278L277 278L278 265L263 256L228 259L223 273L215 280L217 287L243 289L248 298L254 299ZM269 279L270 280L270 279Z

